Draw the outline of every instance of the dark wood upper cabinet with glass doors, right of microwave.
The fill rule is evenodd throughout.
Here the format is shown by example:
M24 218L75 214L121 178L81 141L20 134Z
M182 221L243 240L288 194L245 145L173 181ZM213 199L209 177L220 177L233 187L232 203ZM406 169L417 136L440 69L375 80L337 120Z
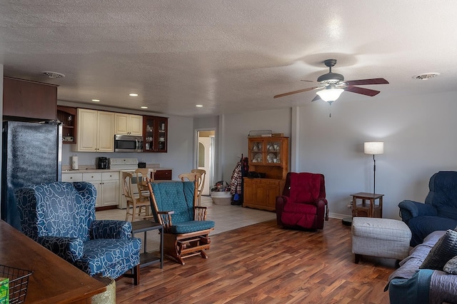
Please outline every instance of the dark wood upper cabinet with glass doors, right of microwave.
M144 152L166 153L169 118L143 116Z

